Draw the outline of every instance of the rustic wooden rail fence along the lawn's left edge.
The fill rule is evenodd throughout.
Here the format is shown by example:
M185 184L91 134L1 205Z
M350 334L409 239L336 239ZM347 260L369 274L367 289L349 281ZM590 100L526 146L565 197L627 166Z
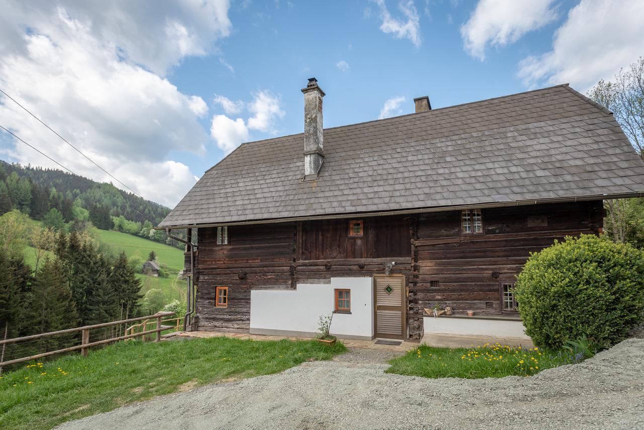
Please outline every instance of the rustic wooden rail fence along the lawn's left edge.
M155 342L158 342L161 340L161 332L164 332L165 330L171 330L174 329L175 326L164 326L162 324L162 319L171 317L175 315L175 312L157 312L155 315L148 315L147 317L138 317L138 318L130 318L130 319L123 319L120 321L112 321L110 323L102 323L102 324L94 324L91 326L82 326L82 327L76 327L76 328L68 328L67 330L59 330L57 332L49 332L49 333L41 333L38 335L31 335L31 336L24 336L24 337L16 337L14 339L6 339L5 341L0 341L0 346L2 347L2 350L4 352L5 346L7 344L19 344L19 342L25 342L25 341L32 341L34 339L44 339L47 337L53 337L53 336L58 336L58 335L66 335L70 333L78 333L82 332L82 337L81 337L81 343L79 345L75 346L70 346L68 348L62 348L61 350L55 350L55 351L47 351L44 353L39 353L35 355L30 355L28 357L21 357L18 359L13 359L13 360L4 360L4 355L2 359L0 359L0 373L2 372L2 368L4 366L9 366L10 364L15 364L15 363L21 363L25 361L31 361L31 360L37 360L37 359L42 359L44 357L49 357L50 355L56 355L56 354L61 354L61 353L66 353L70 351L77 351L81 350L81 354L83 357L87 357L88 351L92 346L99 346L99 345L104 345L108 344L111 342L117 342L117 341L124 341L125 339L132 339L134 337L139 337L143 336L144 341L146 340L146 337L148 335L151 335L152 333L156 333L156 339ZM155 321L154 323L149 323L149 321ZM126 329L126 332L122 336L117 336L117 337L111 337L110 339L103 339L101 341L95 341L95 342L90 342L90 330L96 330L99 328L106 328L106 327L113 327L113 326L118 326L120 324L128 324L128 323L136 323L137 321L144 321L146 324L144 325L144 329L141 332L136 332L133 330L133 327L129 327ZM164 321L165 322L165 321ZM154 324L155 328L151 330L147 330L147 324ZM177 321L178 324L178 321ZM139 326L140 324L137 324ZM132 329L132 330L131 330ZM129 331L129 334L128 334Z

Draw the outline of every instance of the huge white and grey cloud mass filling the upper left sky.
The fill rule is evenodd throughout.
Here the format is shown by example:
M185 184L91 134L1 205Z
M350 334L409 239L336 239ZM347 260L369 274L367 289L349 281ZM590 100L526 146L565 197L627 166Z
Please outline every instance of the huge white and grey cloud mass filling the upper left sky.
M169 154L205 153L198 118L208 109L162 75L226 35L226 12L225 1L8 3L0 15L0 88L138 194L173 206L194 175ZM13 102L0 102L3 126L77 174L111 180ZM14 160L57 167L11 142Z

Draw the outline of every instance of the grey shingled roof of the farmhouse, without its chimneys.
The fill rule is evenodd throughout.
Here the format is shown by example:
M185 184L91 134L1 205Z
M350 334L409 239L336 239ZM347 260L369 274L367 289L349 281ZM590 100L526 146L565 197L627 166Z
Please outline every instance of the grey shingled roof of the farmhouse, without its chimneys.
M641 196L644 163L611 113L567 84L242 144L159 227Z

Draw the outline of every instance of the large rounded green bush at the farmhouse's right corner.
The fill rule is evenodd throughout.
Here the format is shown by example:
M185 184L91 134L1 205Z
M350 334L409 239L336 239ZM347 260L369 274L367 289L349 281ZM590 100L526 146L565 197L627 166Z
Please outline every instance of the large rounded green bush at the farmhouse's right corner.
M537 346L586 335L601 348L625 339L644 310L644 252L607 238L565 238L532 254L515 298Z

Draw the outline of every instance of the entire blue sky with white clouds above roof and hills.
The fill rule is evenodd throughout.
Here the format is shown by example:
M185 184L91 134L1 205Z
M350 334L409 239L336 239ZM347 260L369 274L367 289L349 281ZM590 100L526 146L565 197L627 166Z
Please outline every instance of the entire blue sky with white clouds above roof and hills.
M133 4L131 4L133 3ZM570 82L644 54L644 1L35 1L0 17L0 88L146 198L174 205L236 145ZM108 180L10 100L0 125ZM0 135L5 160L53 167ZM118 184L115 184L118 185Z

